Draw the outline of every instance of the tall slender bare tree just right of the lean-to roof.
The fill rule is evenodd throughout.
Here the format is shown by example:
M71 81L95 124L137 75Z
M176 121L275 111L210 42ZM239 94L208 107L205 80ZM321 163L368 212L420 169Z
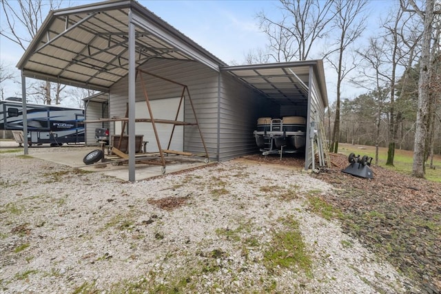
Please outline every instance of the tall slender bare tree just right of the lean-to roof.
M362 15L366 0L336 0L333 2L336 17L334 18L334 32L339 35L336 42L331 45L334 48L327 55L327 61L337 72L337 104L334 130L331 138L331 151L338 151L340 137L340 96L342 81L357 67L356 57L347 52L350 46L361 36L365 30L366 17Z

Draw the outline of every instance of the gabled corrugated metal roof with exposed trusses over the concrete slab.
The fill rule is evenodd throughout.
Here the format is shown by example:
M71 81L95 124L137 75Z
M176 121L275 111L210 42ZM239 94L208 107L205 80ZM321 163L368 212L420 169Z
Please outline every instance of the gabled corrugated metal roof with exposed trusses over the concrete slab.
M226 65L136 1L114 0L50 12L17 67L25 76L107 90L128 72L130 10L151 25L136 25L136 66L155 58Z

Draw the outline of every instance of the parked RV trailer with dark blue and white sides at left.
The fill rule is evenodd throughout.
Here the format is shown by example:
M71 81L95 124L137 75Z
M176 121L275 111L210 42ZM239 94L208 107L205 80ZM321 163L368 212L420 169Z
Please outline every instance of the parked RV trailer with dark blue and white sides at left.
M23 104L20 98L0 101L0 129L23 134ZM27 104L28 145L84 143L84 110L59 105ZM23 136L15 136L24 143ZM19 139L21 138L21 139Z

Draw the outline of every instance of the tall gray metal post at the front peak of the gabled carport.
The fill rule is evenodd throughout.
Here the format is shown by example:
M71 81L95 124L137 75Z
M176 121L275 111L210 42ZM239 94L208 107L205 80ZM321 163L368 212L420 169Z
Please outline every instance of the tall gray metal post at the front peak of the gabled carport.
M129 181L135 180L135 25L129 10Z

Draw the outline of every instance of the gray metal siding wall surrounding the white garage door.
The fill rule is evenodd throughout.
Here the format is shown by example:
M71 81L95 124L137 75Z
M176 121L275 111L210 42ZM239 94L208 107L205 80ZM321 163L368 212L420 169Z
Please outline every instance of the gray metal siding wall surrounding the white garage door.
M218 73L201 63L193 61L172 61L154 59L141 67L172 81L187 85L198 118L199 127L205 140L210 158L217 157L217 103ZM168 81L143 74L143 81L149 100L180 97L183 87ZM127 78L114 85L110 91L112 107L110 116L124 116L127 103ZM187 97L187 92L185 92ZM136 101L145 101L141 78L136 78ZM177 109L178 105L176 105ZM156 117L153 113L154 118ZM184 104L185 121L194 122L194 115L188 98ZM136 129L136 127L135 127ZM135 131L136 132L136 131ZM111 133L113 134L113 133ZM152 144L152 142L150 142ZM184 151L200 154L204 152L201 136L196 126L184 127Z

